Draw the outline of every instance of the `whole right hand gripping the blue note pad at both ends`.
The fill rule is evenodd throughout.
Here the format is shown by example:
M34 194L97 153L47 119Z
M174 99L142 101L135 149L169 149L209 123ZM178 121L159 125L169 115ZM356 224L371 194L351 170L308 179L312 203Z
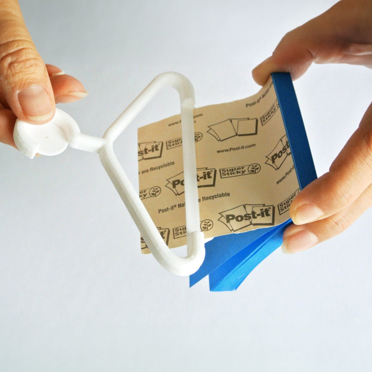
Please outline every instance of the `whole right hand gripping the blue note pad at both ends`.
M252 71L263 85L272 72L300 77L314 63L372 68L372 1L341 0L287 33L273 55ZM292 201L294 224L283 234L284 253L296 253L346 230L372 205L372 103L330 170Z

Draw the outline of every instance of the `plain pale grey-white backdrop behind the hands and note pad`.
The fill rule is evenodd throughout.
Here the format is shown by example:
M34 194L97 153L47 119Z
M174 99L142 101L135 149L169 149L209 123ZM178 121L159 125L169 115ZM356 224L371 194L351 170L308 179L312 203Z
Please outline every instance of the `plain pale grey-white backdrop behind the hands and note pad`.
M252 68L333 0L20 1L45 62L90 94L59 107L102 136L164 71L196 105L259 90ZM371 102L372 71L314 65L295 82L318 175ZM115 150L137 185L137 127L179 112L164 90ZM140 254L96 154L29 160L0 145L0 370L371 371L371 211L304 253L276 250L236 292L211 293Z

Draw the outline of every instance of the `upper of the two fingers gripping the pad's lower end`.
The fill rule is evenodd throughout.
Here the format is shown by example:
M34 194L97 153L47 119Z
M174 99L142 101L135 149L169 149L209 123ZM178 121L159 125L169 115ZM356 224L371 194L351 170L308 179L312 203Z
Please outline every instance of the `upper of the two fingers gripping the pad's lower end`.
M330 170L306 186L289 212L296 225L327 218L351 205L372 183L372 103Z

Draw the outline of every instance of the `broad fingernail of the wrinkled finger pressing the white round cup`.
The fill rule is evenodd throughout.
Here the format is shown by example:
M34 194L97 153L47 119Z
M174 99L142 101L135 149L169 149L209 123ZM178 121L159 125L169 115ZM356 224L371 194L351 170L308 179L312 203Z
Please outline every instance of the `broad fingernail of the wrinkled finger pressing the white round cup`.
M23 113L30 120L45 120L52 116L53 106L47 91L41 85L25 88L18 92Z

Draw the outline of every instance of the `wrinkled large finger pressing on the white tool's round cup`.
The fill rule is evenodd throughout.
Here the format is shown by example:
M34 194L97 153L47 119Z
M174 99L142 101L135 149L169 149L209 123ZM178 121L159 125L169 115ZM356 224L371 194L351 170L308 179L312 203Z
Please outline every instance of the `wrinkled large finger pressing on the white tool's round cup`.
M45 64L36 51L17 1L0 1L1 98L23 121L52 119L55 101Z

